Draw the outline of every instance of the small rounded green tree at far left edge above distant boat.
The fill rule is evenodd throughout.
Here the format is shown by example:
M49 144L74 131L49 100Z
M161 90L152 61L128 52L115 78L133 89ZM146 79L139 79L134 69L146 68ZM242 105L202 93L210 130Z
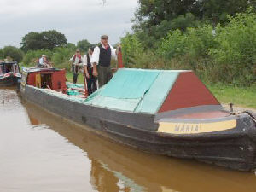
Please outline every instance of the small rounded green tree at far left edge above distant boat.
M0 49L0 55L3 60L9 57L9 59L11 58L13 61L20 62L24 53L14 46L5 46L3 49Z

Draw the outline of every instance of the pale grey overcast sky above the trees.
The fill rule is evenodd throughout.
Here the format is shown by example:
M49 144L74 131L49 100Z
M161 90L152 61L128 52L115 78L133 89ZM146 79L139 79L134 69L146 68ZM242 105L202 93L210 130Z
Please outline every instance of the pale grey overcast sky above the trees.
M99 42L109 35L110 44L131 32L137 0L0 0L0 47L20 46L28 32L55 29L76 44Z

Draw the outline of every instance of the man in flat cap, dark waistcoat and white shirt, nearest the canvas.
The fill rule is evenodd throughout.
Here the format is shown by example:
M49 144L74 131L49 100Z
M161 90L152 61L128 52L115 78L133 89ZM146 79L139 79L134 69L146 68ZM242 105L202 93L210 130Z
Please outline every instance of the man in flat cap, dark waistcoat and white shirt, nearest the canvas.
M113 77L110 63L111 57L117 58L118 49L115 50L108 44L108 35L102 35L101 44L94 49L91 57L91 64L93 65L93 75L98 77L99 87L107 84Z

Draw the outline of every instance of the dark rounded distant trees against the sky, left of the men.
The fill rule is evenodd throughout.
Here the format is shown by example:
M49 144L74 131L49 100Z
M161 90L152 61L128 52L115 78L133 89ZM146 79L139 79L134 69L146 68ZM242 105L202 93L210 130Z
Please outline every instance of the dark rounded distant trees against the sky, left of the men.
M29 32L22 38L21 49L28 50L54 49L67 44L64 34L55 30L45 32Z

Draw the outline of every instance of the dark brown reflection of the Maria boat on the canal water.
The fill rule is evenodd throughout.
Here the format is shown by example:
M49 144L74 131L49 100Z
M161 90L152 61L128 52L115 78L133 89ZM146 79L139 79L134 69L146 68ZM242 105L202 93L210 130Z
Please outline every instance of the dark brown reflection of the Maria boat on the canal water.
M144 154L112 143L28 102L22 103L32 124L49 125L87 153L91 160L90 183L98 191L254 192L256 189L253 173Z

